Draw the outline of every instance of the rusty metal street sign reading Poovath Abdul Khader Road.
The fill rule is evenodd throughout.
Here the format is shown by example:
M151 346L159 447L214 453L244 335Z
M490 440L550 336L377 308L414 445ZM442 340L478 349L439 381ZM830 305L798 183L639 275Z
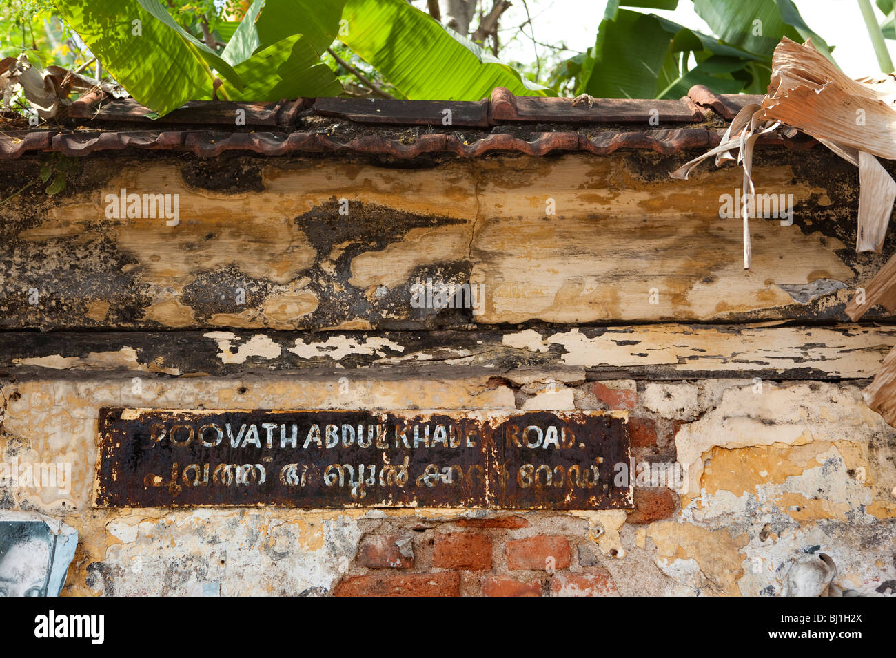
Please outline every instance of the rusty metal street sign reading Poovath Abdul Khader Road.
M98 507L631 508L624 413L99 410Z

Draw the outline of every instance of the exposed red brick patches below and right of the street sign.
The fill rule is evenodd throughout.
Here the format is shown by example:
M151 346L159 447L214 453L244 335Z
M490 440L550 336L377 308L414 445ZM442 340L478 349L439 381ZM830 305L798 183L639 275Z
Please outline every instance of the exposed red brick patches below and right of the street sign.
M611 387L618 385L620 389ZM635 463L676 459L670 420L640 403L632 382L583 382L590 406L636 409L628 420ZM636 474L633 474L636 478ZM668 487L635 483L626 523L650 524L673 517L678 494ZM560 510L495 510L474 517L428 516L370 519L351 570L335 585L337 595L617 596L606 552L587 534L582 519Z

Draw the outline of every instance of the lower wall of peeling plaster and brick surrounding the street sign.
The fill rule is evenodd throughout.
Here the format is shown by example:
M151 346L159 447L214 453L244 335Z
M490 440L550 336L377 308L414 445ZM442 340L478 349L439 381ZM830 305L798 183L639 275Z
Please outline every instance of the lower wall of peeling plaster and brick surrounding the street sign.
M896 586L896 431L864 406L857 383L446 372L350 377L346 389L332 376L146 375L138 394L132 374L47 374L3 389L4 459L72 464L67 495L31 488L0 499L78 529L65 594L780 594L808 550L831 555L844 590ZM597 512L90 507L99 406L297 400L626 409L635 458L687 461L688 484L679 494L636 482L633 510Z

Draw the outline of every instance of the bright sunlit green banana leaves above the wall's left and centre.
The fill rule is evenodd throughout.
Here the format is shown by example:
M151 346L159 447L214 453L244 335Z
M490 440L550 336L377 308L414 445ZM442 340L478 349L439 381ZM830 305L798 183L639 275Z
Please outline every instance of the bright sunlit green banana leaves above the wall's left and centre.
M210 22L218 15L211 2L179 5L174 15L159 0L56 5L116 81L156 115L214 96L338 95L340 81L321 62L337 38L387 79L396 96L478 100L498 86L521 95L555 94L404 0L255 0L236 27ZM175 17L198 23L205 41ZM228 31L220 53L206 43L210 33Z

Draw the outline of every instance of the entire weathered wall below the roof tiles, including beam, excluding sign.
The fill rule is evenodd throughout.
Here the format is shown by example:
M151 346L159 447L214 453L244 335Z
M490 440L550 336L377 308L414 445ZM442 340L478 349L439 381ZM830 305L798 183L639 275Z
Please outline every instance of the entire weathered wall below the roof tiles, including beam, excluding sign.
M896 332L843 313L884 257L852 247L854 168L760 151L796 207L749 271L740 176L669 182L686 153L82 158L4 203L0 453L72 482L0 508L77 528L65 594L773 595L817 552L896 593L896 431L861 394ZM122 187L179 194L177 226L108 218ZM426 278L481 312L412 306ZM636 462L684 472L591 512L101 509L100 406L625 410Z

